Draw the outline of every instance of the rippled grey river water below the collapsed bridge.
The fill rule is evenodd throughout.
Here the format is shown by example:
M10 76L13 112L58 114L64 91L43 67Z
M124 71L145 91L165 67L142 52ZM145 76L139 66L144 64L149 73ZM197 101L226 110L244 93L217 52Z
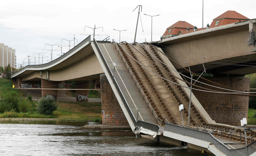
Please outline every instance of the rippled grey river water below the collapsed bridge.
M0 122L1 156L213 156L135 139L130 129L85 129L88 123Z

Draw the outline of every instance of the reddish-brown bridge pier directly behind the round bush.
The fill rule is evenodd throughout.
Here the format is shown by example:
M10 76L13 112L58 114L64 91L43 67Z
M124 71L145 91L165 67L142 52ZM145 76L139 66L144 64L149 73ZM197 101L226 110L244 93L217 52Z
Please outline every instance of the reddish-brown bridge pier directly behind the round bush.
M52 90L52 89L57 89L58 83L59 83L58 81L48 81L45 79L41 79L41 88L47 88L47 89L42 89L42 96L50 96L51 98L54 98L55 100L57 100L58 90Z

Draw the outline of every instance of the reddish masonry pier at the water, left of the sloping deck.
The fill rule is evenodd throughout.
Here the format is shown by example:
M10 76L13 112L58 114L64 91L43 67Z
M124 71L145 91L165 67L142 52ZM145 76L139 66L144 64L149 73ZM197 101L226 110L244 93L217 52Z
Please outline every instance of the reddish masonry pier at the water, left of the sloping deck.
M102 124L129 125L105 74L100 75L100 85L101 108L102 111L104 111Z

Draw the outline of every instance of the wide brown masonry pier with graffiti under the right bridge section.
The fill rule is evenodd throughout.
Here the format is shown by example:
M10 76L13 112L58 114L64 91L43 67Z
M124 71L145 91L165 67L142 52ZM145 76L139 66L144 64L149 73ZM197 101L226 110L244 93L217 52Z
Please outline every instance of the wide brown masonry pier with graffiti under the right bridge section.
M249 91L250 78L245 77L204 77L215 83L225 85L228 87L233 87L239 90ZM205 80L200 80L201 82L207 83L209 85L214 85ZM208 87L200 83L196 83L201 87L206 87L209 89L216 89L213 87ZM230 124L230 125L240 125L240 119L243 117L248 117L248 96L235 96L228 94L216 94L201 92L193 90L194 95L197 97L201 105L204 107L206 112L210 117L217 123Z

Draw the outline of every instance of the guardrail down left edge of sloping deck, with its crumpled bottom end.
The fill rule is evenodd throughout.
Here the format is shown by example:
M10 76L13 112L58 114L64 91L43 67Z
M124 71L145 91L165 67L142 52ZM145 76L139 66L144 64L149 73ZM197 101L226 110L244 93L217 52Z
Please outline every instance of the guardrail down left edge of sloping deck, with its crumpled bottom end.
M101 59L102 59L104 65L105 65L105 67L106 67L106 69L107 69L107 71L108 71L108 73L109 73L110 78L113 79L113 78L114 78L114 76L113 76L114 74L113 74L112 71L110 70L110 67L109 67L109 65L107 64L107 61L106 61L105 57L103 56L102 51L100 50L100 47L99 47L99 45L97 44L97 41L96 41L95 39L93 39L93 44L95 45L96 49L98 50L99 55L100 55L100 57L101 57ZM130 107L129 107L129 105L128 105L128 103L127 103L127 101L126 101L126 99L125 99L125 97L124 97L124 95L123 95L123 92L121 91L119 85L117 84L115 78L113 79L113 83L114 83L114 85L115 85L115 87L116 87L116 90L117 90L117 92L119 93L120 98L122 99L123 104L124 104L124 106L126 107L126 110L127 110L128 114L129 114L130 118L132 119L133 124L134 124L134 126L135 126L135 125L136 125L136 119L135 119L135 117L134 117L134 115L133 115L133 112L131 111L131 109L130 109ZM151 130L151 131L154 131L154 132L156 132L156 133L158 133L159 128L160 128L158 125L152 124L152 123L149 123L149 122L144 122L144 121L140 121L140 122L139 122L139 121L138 121L137 123L143 125L144 128L149 129L149 130ZM142 123L143 123L143 124L142 124ZM142 127L143 127L143 126L142 126ZM156 128L156 126L158 126L158 129Z

